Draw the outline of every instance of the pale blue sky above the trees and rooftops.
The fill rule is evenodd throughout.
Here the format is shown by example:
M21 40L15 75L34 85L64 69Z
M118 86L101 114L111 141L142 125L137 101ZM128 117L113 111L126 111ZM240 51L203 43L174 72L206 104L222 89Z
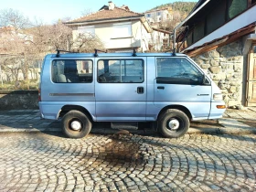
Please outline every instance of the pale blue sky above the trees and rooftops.
M197 0L187 0L186 2L197 2ZM101 6L108 5L109 0L1 0L0 9L13 8L19 10L30 20L42 20L46 24L51 24L59 18L81 16L82 11L98 11ZM173 3L174 0L112 0L117 6L128 5L131 11L143 13L156 5Z

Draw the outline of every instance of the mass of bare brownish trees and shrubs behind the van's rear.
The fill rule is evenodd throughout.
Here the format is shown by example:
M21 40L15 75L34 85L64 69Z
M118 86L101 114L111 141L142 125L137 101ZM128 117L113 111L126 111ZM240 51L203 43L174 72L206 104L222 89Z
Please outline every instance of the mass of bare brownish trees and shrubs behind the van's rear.
M66 19L64 19L66 21ZM26 16L13 9L0 11L1 82L5 80L28 80L38 77L38 62L56 49L92 52L104 48L101 39L80 35L73 39L72 29L62 20L45 25L36 20L30 24ZM29 89L28 83L27 89Z

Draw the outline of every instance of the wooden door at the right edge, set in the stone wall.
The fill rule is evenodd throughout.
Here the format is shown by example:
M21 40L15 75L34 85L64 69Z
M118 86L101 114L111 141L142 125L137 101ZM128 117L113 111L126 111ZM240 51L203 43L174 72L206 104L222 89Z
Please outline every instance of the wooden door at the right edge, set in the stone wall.
M256 106L256 42L248 59L246 106Z

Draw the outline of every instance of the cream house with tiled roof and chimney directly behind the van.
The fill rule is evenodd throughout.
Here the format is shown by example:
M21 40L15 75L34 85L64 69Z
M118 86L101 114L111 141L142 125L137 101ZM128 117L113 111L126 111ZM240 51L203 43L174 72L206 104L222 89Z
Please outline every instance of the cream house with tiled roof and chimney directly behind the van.
M144 14L134 13L127 5L118 7L111 1L98 12L65 23L72 28L73 38L79 34L99 37L108 51L149 51L162 48L164 33L150 27ZM155 37L156 36L156 37ZM153 37L158 42L152 43Z

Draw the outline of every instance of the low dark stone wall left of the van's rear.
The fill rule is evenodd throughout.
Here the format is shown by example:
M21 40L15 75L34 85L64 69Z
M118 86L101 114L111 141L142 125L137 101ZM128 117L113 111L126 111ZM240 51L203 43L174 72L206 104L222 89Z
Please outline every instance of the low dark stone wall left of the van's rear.
M38 109L38 91L0 91L0 110Z

